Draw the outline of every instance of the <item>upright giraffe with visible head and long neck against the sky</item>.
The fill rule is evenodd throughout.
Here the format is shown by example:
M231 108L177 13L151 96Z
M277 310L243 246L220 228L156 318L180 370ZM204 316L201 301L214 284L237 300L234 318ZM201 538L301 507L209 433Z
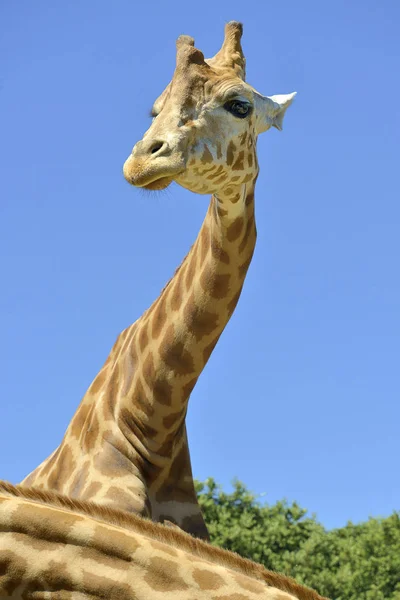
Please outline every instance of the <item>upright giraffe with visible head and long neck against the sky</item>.
M239 300L256 242L257 137L282 129L294 93L245 82L242 25L206 60L189 36L124 164L133 186L172 181L211 194L198 237L160 296L125 329L60 446L24 485L168 520L208 539L194 490L185 417L190 394Z

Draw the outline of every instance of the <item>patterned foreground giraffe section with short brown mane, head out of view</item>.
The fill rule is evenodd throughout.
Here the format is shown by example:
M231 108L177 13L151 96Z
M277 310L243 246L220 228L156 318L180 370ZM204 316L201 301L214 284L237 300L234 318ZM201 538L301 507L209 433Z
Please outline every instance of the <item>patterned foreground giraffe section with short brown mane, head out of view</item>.
M0 482L0 599L324 600L181 529Z

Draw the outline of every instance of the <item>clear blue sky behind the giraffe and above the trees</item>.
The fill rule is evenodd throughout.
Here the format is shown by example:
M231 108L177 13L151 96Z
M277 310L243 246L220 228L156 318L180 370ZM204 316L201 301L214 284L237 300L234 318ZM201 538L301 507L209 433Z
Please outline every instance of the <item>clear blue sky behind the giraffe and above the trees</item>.
M0 477L61 441L117 334L181 262L208 198L122 165L169 81L244 22L248 81L297 90L260 138L258 243L195 389L194 474L327 527L400 508L400 4L97 0L0 7Z

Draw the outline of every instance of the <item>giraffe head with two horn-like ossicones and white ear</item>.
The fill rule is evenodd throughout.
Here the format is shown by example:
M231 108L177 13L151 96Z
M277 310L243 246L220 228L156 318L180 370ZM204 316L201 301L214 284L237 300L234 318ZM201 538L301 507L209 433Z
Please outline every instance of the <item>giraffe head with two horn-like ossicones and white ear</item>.
M176 181L192 192L218 193L255 179L256 141L282 121L294 93L262 96L245 82L242 25L225 27L220 51L205 59L194 40L177 40L176 68L153 105L153 122L132 150L124 176L159 190Z

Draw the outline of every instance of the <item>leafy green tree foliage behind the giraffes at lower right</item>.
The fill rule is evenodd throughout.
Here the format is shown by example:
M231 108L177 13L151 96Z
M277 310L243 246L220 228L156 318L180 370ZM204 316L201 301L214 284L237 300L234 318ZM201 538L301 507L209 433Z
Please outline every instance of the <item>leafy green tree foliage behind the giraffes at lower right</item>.
M197 483L212 543L335 600L400 600L400 513L327 531L293 502L260 503L240 482Z

